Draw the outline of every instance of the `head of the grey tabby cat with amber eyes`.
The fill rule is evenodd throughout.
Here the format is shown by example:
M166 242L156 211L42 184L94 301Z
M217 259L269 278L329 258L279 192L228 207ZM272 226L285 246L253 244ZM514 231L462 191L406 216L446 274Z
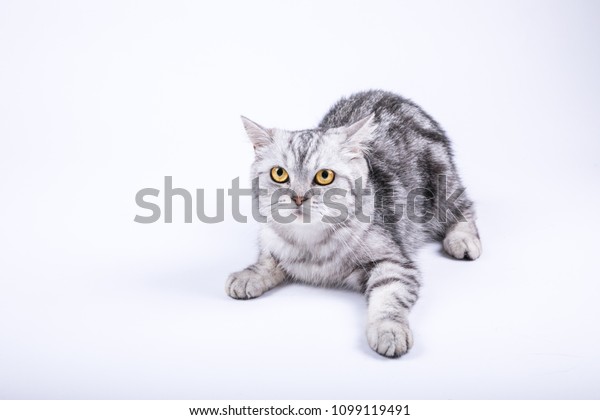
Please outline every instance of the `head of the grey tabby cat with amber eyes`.
M255 150L252 177L263 190L260 213L279 232L310 243L356 220L357 213L370 216L372 197L358 200L356 189L368 183L372 115L326 130L268 129L242 121Z

